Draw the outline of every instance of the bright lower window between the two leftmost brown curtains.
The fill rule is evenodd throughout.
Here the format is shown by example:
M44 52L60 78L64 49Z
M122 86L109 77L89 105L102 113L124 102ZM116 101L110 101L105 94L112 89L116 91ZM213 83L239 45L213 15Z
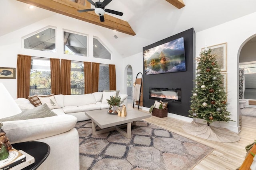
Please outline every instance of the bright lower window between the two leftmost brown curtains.
M30 96L35 94L51 94L50 60L31 60Z

